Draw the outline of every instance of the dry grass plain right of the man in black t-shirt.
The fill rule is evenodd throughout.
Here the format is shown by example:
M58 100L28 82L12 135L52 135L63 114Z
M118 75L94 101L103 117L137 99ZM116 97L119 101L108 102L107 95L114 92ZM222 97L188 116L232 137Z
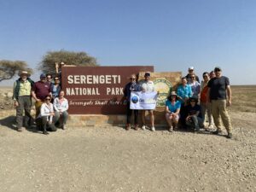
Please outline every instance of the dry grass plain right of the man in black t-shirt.
M256 85L234 85L232 90L232 111L256 113Z

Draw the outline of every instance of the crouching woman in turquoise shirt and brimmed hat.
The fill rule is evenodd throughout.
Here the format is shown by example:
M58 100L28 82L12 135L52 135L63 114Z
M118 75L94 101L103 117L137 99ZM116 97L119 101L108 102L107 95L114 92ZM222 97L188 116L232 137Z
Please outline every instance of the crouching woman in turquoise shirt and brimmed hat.
M177 101L177 94L175 91L171 92L166 101L166 121L169 125L169 131L177 130L177 122L179 119L179 111L181 104Z

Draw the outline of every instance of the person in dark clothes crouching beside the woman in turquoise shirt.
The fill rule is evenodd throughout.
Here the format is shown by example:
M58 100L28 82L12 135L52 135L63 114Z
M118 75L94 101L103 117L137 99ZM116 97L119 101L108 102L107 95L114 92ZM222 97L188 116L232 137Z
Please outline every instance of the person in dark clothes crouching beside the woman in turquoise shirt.
M198 100L195 96L189 98L189 105L186 107L188 116L186 117L186 125L193 128L194 131L200 131L200 127L203 127L201 119L201 108L197 104Z

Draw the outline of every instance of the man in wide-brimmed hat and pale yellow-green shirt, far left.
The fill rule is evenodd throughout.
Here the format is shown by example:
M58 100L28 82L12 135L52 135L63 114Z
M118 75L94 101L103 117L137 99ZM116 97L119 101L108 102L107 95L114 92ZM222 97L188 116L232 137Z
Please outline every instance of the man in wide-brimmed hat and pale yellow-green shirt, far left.
M30 74L26 71L20 72L20 79L14 84L14 106L16 108L17 131L22 131L23 110L25 110L24 126L27 128L31 124L31 90L34 82L29 78Z

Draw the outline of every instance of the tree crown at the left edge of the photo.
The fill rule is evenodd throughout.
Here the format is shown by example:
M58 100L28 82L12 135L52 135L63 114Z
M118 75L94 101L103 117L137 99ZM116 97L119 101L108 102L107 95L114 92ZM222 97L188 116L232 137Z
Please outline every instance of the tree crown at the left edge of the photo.
M0 61L0 82L7 79L12 79L20 71L32 73L32 69L27 67L25 61Z

